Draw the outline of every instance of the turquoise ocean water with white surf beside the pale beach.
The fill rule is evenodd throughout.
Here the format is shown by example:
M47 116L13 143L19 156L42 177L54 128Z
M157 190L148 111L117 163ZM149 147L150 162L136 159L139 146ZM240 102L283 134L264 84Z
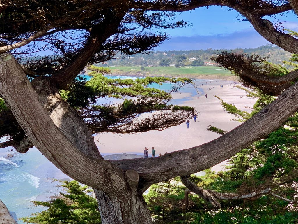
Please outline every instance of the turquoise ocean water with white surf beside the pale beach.
M137 77L108 76L108 78L136 79ZM196 80L197 90L192 85L186 85L181 89L181 92L196 96L198 91L200 95L204 95L203 87L200 88L200 85L204 84L205 88L206 82L209 83L209 80ZM151 87L165 91L171 89L172 86L170 83L151 85ZM180 104L187 100L188 98L184 98L171 103ZM10 147L0 149L0 199L17 220L44 210L42 207L34 207L31 201L49 200L50 196L58 194L61 190L57 186L59 183L53 182L53 179L69 177L49 162L36 148L30 149L25 154L11 151L11 149ZM18 223L23 222L18 221Z

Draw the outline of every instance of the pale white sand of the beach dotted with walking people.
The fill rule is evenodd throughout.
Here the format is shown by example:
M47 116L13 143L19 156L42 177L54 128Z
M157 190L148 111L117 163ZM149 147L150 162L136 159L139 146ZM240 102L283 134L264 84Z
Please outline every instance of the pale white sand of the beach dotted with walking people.
M211 131L207 131L209 125L213 125L217 128L221 128L226 131L230 131L237 127L240 123L231 121L230 119L235 116L228 114L222 106L219 104L219 100L214 95L220 97L227 103L235 104L238 109L249 111L245 109L245 106L252 107L256 99L248 98L245 95L245 91L233 86L227 86L232 83L231 81L219 81L215 82L211 80L211 84L206 85L206 81L197 81L198 87L203 83L204 93L197 94L191 97L190 93L175 93L174 99L187 97L188 100L184 101L182 105L189 105L195 107L198 113L197 122L193 119L190 120L190 128L187 129L185 123L166 129L164 131L148 131L140 134L125 134L125 135L113 135L111 133L105 133L96 136L98 140L98 148L102 155L107 154L122 154L131 153L143 155L145 147L149 148L149 157L151 154L151 148L154 146L156 150L156 156L159 153L172 152L181 149L191 148L203 143L209 142L217 137L216 134ZM223 85L223 88L220 85ZM215 87L215 89L209 90L209 87ZM208 88L208 91L206 89ZM207 93L207 99L205 94ZM197 97L199 96L199 99ZM240 97L243 98L240 98ZM100 143L101 144L100 144ZM220 165L216 166L215 170L219 170Z

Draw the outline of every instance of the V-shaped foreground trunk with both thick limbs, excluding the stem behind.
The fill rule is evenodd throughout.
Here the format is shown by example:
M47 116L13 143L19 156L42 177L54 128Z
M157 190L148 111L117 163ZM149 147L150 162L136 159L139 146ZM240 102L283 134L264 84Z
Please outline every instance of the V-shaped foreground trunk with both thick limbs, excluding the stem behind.
M66 137L67 135L71 139L72 135L63 134L54 124L38 99L36 90L15 60L4 54L1 55L0 62L0 94L14 116L33 144L51 162L70 177L96 188L103 223L152 223L141 195L145 188L152 183L182 174L192 174L215 165L251 142L266 136L297 111L297 93L296 83L252 119L212 142L146 161L114 161L113 163L117 164L115 166L100 157L93 159L75 147L78 143L72 143ZM43 104L46 106L45 102ZM63 112L63 109L60 110ZM58 122L57 125L60 127L61 123ZM260 124L263 124L263 129L256 131L255 127ZM219 145L225 147L218 147ZM140 181L138 182L139 178L128 175L125 172L127 170L137 171L132 173L135 177L140 176Z

